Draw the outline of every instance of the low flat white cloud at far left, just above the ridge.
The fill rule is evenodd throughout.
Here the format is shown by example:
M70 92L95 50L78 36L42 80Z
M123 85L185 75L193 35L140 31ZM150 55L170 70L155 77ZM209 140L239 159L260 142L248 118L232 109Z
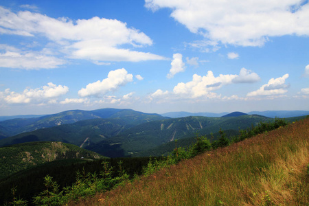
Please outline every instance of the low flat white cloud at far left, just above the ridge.
M36 89L25 89L23 93L10 92L5 90L7 94L4 98L8 104L27 104L30 102L53 102L60 95L64 95L69 91L67 86L56 85L49 82L47 86Z

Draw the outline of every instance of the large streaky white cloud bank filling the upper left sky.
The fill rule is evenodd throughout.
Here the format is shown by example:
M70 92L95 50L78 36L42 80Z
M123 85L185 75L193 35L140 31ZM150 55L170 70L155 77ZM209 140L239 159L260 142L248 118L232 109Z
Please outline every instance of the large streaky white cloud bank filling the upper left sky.
M30 8L30 5L24 5L23 8ZM43 36L49 40L48 43L57 45L62 56L65 54L68 58L86 59L99 64L109 61L165 60L163 56L135 51L139 47L152 45L151 38L117 19L99 17L76 21L66 17L54 19L37 12L11 12L0 6L0 34L36 36L36 38ZM3 62L8 62L5 67L21 69L32 69L32 65L36 62L40 65L49 62L42 68L54 68L63 63L55 57L40 56L39 53L35 54L32 51L24 54L11 54L10 51L5 51L1 56L5 57ZM24 62L31 66L22 67Z

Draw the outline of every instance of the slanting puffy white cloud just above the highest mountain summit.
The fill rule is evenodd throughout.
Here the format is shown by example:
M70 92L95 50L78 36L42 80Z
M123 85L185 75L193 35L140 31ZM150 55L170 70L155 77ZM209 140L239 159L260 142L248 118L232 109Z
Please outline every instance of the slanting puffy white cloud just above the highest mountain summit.
M108 91L115 91L119 87L132 81L133 75L128 73L126 69L117 69L110 71L106 79L90 83L86 88L80 89L80 91L78 91L78 95L82 98L87 96L100 97L108 93Z

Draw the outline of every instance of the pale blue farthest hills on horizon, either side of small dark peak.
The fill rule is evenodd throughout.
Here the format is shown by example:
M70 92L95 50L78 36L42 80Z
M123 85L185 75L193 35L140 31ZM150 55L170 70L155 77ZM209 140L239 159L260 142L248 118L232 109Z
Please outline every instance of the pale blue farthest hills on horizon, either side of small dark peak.
M203 116L203 117L222 117L231 113L188 113L188 112L170 112L161 114L163 117L190 117L190 116ZM270 118L286 118L286 117L299 117L309 115L309 111L251 111L248 115L262 115Z

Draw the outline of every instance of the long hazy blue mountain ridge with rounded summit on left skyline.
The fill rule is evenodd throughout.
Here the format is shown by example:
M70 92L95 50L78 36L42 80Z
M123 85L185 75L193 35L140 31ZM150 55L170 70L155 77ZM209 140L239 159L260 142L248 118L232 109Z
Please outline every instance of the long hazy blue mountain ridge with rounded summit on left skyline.
M159 119L166 119L157 114L147 114L130 109L102 108L93 111L64 111L54 115L45 115L34 118L10 119L0 122L0 135L11 137L20 133L26 133L40 128L51 128L63 124L72 124L78 121L96 118L122 118L127 124L136 125Z

